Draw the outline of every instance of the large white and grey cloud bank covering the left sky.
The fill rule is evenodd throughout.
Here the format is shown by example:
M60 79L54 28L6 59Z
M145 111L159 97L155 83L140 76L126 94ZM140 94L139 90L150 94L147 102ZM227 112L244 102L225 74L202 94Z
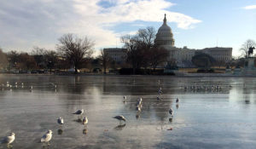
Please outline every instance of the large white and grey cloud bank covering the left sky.
M7 49L29 49L38 44L54 49L58 37L72 32L91 37L96 47L104 47L116 45L121 32L115 31L114 26L120 24L125 26L137 20L160 22L163 14L167 14L168 22L182 29L193 28L201 22L189 15L169 11L174 5L167 0L3 1L0 5L0 45Z

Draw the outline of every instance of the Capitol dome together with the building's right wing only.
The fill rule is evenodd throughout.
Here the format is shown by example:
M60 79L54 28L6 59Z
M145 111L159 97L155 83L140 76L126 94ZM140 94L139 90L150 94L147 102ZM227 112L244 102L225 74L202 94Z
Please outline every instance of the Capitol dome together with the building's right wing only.
M211 55L218 62L227 62L232 59L232 48L206 48L206 49L188 49L187 47L177 48L174 46L172 29L167 25L166 15L163 25L160 26L154 43L170 51L170 60L175 60L177 66L192 66L192 57L198 53Z

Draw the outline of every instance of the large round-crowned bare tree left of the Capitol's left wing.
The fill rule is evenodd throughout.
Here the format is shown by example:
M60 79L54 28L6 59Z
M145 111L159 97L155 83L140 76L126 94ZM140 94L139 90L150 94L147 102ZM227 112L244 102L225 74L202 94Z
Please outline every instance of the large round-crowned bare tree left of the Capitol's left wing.
M88 38L74 37L73 34L65 34L59 39L57 49L60 54L74 66L75 73L83 65L85 58L92 54L94 43Z

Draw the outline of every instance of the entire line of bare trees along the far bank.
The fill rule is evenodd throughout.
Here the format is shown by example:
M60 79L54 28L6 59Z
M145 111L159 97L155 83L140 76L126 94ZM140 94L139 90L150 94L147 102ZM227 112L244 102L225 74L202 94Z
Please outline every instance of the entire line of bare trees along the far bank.
M153 27L138 30L136 35L125 35L120 37L124 43L127 52L127 60L125 65L121 67L132 68L132 73L135 74L137 69L144 70L157 66L175 66L175 60L168 60L169 52L154 44L155 30ZM0 66L18 70L32 69L69 69L74 68L74 72L78 73L80 68L85 67L102 67L104 73L109 67L115 67L116 64L107 53L101 50L101 54L96 59L91 58L93 53L94 42L88 37L75 37L73 34L65 34L59 38L59 43L56 44L56 50L42 49L34 47L30 54L10 51L3 53L0 49ZM255 47L253 40L247 40L241 46L245 57L248 56L248 49ZM193 57L192 62L195 66L211 66L216 61L207 54L198 54Z

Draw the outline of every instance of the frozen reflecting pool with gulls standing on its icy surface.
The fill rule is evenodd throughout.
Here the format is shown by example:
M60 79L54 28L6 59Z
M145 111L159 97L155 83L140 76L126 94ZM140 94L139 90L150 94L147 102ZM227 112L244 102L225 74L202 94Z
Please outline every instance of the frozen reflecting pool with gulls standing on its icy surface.
M14 132L17 149L43 148L39 140L48 129L53 138L44 148L256 146L253 77L1 75L0 84L0 139ZM143 106L137 112L140 97ZM84 109L82 118L88 117L86 126L72 114L79 109ZM113 119L116 115L125 116L126 123ZM61 126L58 117L64 118Z

